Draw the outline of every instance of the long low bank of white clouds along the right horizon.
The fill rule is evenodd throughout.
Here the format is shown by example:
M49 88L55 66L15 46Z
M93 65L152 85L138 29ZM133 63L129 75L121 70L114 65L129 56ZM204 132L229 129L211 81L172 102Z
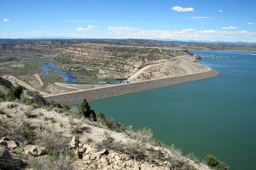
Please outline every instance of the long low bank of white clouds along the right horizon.
M152 38L177 40L210 40L210 41L244 41L256 42L256 34L248 31L195 30L192 28L179 30L146 30L134 27L108 27L108 35L115 38ZM108 36L109 37L109 36Z

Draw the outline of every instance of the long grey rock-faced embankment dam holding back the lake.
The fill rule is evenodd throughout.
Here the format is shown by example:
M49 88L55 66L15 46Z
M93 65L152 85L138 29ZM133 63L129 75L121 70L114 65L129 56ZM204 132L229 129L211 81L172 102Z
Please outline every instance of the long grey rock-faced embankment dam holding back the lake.
M207 67L207 66L206 66ZM209 68L209 67L208 67ZM191 82L200 79L207 79L218 75L218 71L209 68L209 70L193 74L184 74L180 76L165 77L159 79L151 79L140 82L132 82L121 85L113 85L107 87L99 87L82 91L66 92L62 94L53 94L44 96L50 102L52 100L59 102L61 105L79 104L84 98L87 102L105 99L124 94L135 93L139 91L151 90L154 88L162 88L169 85L176 85L184 82Z

